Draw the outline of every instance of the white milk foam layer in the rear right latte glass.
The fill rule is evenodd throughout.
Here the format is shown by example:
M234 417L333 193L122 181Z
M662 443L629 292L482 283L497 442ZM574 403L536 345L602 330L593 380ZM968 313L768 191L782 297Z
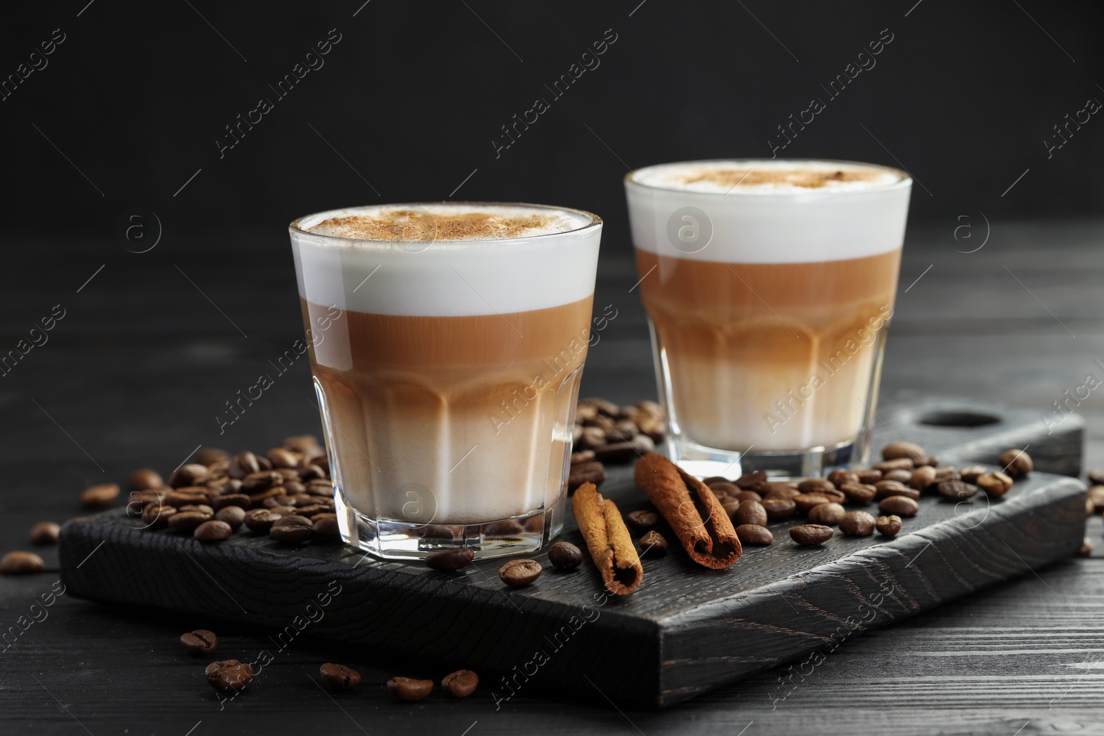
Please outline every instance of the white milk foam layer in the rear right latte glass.
M718 175L749 170L757 172L754 184L733 185ZM787 171L856 172L866 179L826 179L809 188L787 183ZM783 181L764 183L771 174ZM625 178L636 247L743 264L820 263L896 250L904 242L911 188L912 179L895 169L845 161L692 161Z

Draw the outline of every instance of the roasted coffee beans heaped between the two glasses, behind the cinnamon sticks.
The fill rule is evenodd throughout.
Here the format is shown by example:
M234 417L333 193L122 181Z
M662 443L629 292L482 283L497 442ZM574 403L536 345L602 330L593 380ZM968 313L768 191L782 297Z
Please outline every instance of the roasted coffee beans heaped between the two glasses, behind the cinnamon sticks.
M664 438L664 410L656 402L617 406L604 398L584 398L575 407L575 429L567 489L601 486L606 462L631 462L656 449Z

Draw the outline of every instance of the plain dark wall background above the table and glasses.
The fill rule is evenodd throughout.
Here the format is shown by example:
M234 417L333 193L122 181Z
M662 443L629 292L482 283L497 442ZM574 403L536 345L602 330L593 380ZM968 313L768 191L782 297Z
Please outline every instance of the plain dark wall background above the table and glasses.
M1043 143L1104 100L1096 3L362 2L9 10L0 74L54 29L66 38L0 102L9 227L64 233L67 256L115 256L116 220L138 206L160 218L161 248L244 226L284 257L296 216L447 199L477 170L456 199L591 210L609 224L605 248L624 250L629 167L768 156L815 96L827 109L779 154L907 168L922 183L913 222L964 207L1079 216L1104 198L1095 116L1051 159ZM341 41L325 65L278 98L268 85L330 29ZM607 29L601 65L552 99L544 85ZM830 99L820 85L883 29L877 65ZM496 157L501 126L538 96L551 109ZM220 158L215 140L261 97L274 109Z

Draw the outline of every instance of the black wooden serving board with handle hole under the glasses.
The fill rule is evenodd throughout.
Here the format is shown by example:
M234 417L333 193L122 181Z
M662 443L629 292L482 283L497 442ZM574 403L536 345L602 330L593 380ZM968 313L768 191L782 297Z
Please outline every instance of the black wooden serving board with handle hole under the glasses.
M121 510L65 524L62 579L77 597L270 627L274 641L302 631L475 669L496 700L544 683L666 706L1074 554L1085 491L1062 476L1080 474L1082 434L1079 417L1048 435L1034 413L960 399L884 409L875 448L905 439L960 466L1027 447L1036 472L991 502L924 498L894 540L837 534L802 548L786 531L799 522L782 522L773 546L749 547L721 572L676 550L644 561L644 583L623 599L603 595L590 561L559 573L535 555L541 578L508 589L500 561L437 573L340 543L287 547L244 527L201 544L136 530ZM647 505L630 467L609 470L602 491L623 512ZM573 523L562 538L582 546Z

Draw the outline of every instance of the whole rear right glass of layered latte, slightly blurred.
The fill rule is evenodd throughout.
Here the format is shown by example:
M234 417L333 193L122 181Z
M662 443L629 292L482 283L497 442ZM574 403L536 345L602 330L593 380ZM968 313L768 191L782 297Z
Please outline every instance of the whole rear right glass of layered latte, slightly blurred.
M724 477L867 461L911 186L846 161L626 177L672 459Z

